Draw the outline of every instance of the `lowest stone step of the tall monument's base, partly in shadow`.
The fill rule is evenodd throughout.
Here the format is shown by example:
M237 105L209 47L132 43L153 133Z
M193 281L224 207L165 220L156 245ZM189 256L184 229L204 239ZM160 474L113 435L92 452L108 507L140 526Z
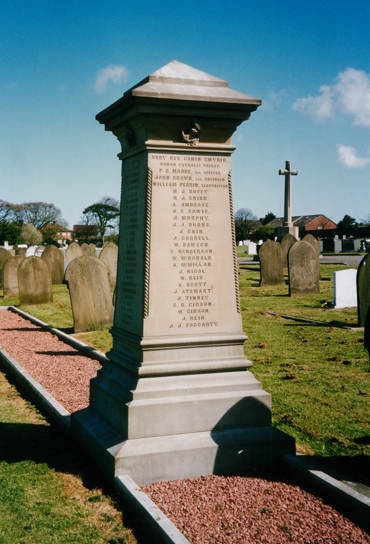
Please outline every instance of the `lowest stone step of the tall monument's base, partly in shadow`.
M295 453L294 439L271 426L124 440L91 408L72 415L72 432L109 479L128 474L139 485L271 469Z

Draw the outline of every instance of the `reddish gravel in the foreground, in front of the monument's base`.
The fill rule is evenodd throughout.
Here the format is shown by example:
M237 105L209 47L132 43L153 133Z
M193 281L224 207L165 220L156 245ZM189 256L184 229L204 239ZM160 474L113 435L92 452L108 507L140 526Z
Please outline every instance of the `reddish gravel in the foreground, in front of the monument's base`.
M192 544L364 544L369 536L284 482L206 476L142 488Z

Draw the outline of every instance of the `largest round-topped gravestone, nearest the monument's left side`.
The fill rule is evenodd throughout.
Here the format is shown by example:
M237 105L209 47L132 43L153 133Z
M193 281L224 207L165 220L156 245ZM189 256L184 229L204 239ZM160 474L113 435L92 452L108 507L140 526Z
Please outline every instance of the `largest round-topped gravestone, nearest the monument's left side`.
M107 266L96 257L77 257L69 264L68 285L74 331L84 332L113 325L113 302Z

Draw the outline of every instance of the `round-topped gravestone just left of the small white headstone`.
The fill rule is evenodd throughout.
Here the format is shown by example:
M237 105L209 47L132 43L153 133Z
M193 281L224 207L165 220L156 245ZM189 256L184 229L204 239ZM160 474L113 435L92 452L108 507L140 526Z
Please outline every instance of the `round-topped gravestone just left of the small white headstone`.
M319 259L308 242L297 242L288 253L289 296L309 296L320 293Z

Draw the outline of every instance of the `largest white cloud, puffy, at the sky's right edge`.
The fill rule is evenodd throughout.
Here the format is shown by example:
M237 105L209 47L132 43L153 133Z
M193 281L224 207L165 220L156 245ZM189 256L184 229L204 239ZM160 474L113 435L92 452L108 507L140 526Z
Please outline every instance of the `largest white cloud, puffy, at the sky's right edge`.
M317 121L345 114L354 125L370 128L370 76L363 70L347 68L332 85L323 85L319 91L317 96L298 98L293 109Z

